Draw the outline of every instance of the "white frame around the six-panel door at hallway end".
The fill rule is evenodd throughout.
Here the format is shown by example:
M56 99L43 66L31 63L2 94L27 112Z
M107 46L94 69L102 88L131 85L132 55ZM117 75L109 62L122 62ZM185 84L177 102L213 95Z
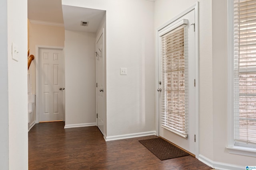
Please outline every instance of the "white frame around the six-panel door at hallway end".
M64 56L64 47L58 47L58 46L48 46L48 45L36 45L36 123L39 123L39 108L40 108L40 71L39 71L39 66L40 66L40 49L58 49L62 50L63 52L63 87L65 87L65 56ZM63 91L63 104L65 105L65 92ZM65 108L65 107L64 107ZM65 110L64 110L64 115L63 115L63 121L65 121Z

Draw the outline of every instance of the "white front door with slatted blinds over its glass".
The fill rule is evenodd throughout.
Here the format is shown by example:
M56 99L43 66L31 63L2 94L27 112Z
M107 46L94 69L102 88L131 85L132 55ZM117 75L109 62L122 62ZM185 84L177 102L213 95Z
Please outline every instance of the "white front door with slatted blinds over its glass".
M195 10L158 31L159 135L196 152Z

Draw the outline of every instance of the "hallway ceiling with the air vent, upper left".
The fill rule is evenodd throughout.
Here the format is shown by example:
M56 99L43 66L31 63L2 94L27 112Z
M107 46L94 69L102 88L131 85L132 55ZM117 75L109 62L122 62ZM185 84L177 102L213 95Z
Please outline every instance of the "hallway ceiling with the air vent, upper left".
M61 0L28 0L28 19L58 23L72 31L96 32L106 11L61 4ZM88 22L81 26L81 21ZM40 23L40 22L39 22Z

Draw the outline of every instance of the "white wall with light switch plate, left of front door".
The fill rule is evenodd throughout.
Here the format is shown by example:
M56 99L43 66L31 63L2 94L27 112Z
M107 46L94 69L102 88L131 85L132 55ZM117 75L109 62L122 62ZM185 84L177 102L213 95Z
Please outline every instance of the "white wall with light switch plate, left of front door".
M62 0L106 10L107 137L155 130L154 2ZM120 75L120 67L128 70Z

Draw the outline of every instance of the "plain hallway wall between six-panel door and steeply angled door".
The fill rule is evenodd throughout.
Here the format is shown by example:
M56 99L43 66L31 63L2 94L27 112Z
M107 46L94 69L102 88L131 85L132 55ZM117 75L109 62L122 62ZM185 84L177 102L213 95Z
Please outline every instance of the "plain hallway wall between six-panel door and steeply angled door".
M65 30L65 127L96 123L95 42L95 33Z

